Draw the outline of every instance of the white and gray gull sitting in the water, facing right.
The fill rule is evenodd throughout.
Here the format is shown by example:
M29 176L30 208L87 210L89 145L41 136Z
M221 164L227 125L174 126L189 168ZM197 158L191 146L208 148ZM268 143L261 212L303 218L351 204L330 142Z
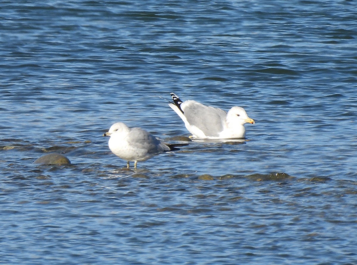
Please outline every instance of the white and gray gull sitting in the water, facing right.
M245 123L254 124L242 107L234 106L228 112L205 106L195 100L182 100L174 93L170 94L174 103L169 104L185 122L192 137L201 139L233 139L245 137Z

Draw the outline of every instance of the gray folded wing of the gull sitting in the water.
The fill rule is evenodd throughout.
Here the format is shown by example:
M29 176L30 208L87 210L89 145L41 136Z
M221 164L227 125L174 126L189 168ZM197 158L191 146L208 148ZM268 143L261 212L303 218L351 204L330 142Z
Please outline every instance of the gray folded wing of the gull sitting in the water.
M206 136L218 136L223 131L227 112L210 106L205 106L194 100L181 104L183 115L188 123L199 128Z

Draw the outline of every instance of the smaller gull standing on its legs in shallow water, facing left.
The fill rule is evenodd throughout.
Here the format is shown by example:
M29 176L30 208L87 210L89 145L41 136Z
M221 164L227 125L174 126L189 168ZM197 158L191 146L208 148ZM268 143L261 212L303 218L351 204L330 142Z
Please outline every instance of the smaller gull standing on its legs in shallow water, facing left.
M113 124L103 136L110 136L109 149L121 159L129 162L134 161L136 169L137 161L146 161L162 152L175 150L175 146L186 144L166 144L161 139L139 128L130 128L123 122Z

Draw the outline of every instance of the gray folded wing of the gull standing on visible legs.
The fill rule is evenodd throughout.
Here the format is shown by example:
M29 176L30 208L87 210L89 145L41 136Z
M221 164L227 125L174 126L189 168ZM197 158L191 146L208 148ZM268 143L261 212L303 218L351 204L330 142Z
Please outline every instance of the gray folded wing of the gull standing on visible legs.
M128 143L135 148L146 150L148 154L170 150L160 139L139 127L131 128Z

